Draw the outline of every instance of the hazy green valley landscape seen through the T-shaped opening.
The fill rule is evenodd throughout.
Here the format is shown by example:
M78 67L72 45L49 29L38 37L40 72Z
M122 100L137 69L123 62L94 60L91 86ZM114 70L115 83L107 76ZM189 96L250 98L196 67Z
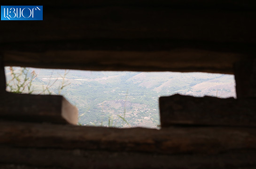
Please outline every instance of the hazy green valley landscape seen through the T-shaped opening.
M63 95L78 107L78 125L160 125L158 98L235 97L233 75L179 72L109 72L5 67L7 91Z

